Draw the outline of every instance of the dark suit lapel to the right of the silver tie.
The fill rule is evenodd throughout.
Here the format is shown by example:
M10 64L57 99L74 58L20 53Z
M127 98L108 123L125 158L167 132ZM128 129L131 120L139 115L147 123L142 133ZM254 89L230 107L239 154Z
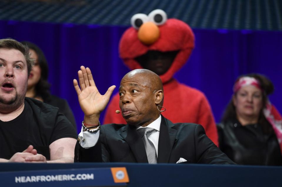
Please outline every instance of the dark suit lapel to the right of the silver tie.
M173 123L161 115L160 135L158 138L158 163L168 163L177 134L177 130L172 129Z

